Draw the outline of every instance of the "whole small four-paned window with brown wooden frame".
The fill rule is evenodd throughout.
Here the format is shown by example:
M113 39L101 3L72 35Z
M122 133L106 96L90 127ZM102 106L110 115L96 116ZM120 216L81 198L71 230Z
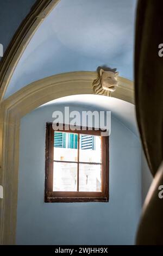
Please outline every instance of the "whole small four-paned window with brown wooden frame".
M45 202L108 202L109 137L101 131L47 123L45 167Z

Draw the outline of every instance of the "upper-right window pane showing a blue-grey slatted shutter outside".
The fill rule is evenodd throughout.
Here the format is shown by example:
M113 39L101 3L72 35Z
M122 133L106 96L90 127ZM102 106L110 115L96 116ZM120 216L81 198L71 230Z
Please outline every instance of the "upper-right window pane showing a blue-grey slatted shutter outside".
M79 162L101 163L101 136L80 135Z

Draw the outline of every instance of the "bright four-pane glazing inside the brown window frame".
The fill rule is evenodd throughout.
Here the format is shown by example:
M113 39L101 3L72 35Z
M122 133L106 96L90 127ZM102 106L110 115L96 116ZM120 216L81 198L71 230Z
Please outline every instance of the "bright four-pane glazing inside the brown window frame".
M78 168L79 191L101 191L101 137L54 132L53 191L77 191Z

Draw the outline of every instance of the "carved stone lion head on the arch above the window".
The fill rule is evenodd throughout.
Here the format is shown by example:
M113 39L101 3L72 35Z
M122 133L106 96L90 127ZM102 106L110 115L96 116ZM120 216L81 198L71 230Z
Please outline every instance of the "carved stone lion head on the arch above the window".
M99 76L93 81L93 90L96 94L110 96L118 86L117 77L119 72L99 70Z

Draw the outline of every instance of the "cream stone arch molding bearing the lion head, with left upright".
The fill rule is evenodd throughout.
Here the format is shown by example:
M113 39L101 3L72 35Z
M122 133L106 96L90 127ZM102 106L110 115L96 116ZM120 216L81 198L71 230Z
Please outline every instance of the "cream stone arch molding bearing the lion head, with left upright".
M0 184L4 188L4 198L0 199L0 237L1 244L15 243L18 154L21 118L43 103L59 97L94 94L92 82L96 72L70 72L35 81L8 97L0 109ZM118 77L119 86L112 97L134 102L133 83Z

